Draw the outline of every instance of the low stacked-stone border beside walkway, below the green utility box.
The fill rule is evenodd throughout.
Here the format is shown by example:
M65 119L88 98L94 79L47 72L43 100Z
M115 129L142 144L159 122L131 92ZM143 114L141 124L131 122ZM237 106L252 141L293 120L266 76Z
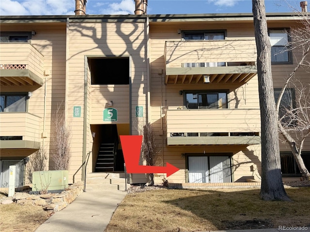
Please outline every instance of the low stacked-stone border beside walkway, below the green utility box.
M68 204L73 202L83 191L84 183L78 182L70 185L61 193L48 194L28 194L25 192L16 192L12 200L22 205L38 205L54 213L62 210Z

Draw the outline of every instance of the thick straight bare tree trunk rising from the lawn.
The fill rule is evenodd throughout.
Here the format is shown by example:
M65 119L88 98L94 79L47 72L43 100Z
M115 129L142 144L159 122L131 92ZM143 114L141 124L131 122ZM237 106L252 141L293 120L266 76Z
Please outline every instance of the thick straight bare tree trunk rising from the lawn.
M252 0L257 47L257 72L262 126L261 199L290 201L283 187L279 152L278 115L271 74L271 45L263 0Z

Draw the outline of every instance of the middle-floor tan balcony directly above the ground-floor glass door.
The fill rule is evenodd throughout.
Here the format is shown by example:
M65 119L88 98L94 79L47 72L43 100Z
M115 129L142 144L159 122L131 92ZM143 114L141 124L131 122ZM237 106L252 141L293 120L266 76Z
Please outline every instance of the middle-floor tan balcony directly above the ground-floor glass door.
M259 109L168 109L167 145L261 143Z

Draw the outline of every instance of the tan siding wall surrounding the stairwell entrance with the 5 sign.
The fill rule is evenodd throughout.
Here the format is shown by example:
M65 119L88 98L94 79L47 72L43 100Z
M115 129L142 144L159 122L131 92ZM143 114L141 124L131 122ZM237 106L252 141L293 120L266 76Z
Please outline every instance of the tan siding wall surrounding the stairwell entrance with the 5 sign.
M147 65L144 23L70 23L69 32L69 70L68 70L68 120L72 125L72 170L78 170L82 164L83 123L84 123L84 63L85 56L92 57L131 57L132 112L135 105L147 110ZM108 101L118 110L117 123L129 123L129 85L91 85L91 73L88 71L87 91L87 141L88 150L92 150L90 124L104 124L103 110ZM104 77L104 70L102 71ZM112 77L117 78L117 77ZM82 116L73 117L74 106L81 106ZM111 122L106 122L111 123ZM135 127L133 134L137 134ZM95 159L95 156L93 156ZM94 162L89 162L92 164ZM91 172L92 168L88 167ZM71 172L73 174L73 172ZM81 178L81 171L75 176Z

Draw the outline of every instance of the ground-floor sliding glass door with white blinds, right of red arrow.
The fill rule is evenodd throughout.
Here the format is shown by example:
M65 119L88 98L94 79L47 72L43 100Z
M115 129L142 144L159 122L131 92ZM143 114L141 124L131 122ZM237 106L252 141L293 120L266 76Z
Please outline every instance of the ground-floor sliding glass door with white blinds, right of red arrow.
M190 155L187 159L189 183L232 182L230 156Z

